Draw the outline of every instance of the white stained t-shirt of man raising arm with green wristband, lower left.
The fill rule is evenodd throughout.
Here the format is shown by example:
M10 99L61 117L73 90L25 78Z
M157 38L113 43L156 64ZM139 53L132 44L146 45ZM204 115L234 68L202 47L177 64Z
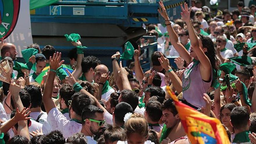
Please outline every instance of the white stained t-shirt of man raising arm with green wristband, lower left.
M65 139L82 129L82 124L67 120L56 107L49 111L47 121L51 125L51 129L61 131Z

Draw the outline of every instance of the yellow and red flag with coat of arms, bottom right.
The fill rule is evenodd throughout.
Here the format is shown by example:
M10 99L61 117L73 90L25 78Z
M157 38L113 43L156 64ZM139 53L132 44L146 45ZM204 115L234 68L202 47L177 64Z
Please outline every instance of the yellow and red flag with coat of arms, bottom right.
M183 128L192 144L230 144L220 120L211 118L179 102L169 86L167 86L167 92L175 102Z

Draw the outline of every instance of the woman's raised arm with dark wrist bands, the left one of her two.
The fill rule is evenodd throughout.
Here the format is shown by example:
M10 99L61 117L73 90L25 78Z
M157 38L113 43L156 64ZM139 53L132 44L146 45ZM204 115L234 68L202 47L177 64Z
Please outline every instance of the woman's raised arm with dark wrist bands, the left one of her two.
M187 62L190 63L192 58L189 54L189 52L186 50L186 48L179 42L177 33L173 30L173 27L171 26L170 19L166 13L166 9L163 5L163 2L159 2L160 9L158 12L165 20L165 25L168 31L170 42L172 43L173 47L178 51L179 55Z

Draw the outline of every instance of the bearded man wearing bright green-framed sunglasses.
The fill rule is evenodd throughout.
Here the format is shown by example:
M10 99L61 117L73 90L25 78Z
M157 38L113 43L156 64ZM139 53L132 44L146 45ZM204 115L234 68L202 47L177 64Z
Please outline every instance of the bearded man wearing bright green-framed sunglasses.
M104 128L104 116L103 110L97 106L89 105L83 109L82 120L84 121L82 125L81 133L83 133L87 138L87 143L97 144L93 140L93 135L98 135Z

